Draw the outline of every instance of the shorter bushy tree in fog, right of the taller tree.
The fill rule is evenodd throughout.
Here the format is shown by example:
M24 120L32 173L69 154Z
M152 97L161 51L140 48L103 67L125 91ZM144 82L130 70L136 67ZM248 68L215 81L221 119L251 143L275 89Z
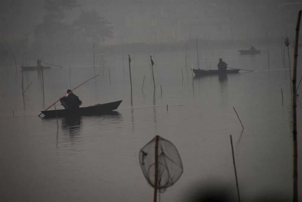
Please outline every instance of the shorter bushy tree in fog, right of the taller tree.
M81 10L79 18L74 21L73 26L81 29L85 37L98 42L113 38L113 26L110 26L110 24L97 11L92 9L90 11Z

